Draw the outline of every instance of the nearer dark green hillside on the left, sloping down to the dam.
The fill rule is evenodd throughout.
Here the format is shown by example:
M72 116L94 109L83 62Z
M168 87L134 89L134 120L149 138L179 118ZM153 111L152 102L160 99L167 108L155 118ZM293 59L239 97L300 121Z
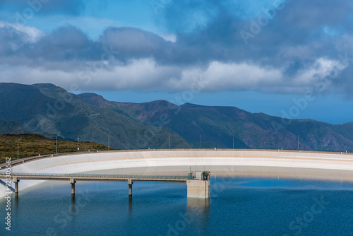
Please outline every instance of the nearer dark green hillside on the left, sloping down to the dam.
M15 109L19 104L20 108ZM20 122L31 133L58 134L66 139L79 137L82 141L108 145L110 135L110 145L120 149L169 145L164 140L169 129L151 132L148 125L112 108L91 105L52 84L0 83L0 117ZM179 147L188 146L183 138L173 132L172 136Z

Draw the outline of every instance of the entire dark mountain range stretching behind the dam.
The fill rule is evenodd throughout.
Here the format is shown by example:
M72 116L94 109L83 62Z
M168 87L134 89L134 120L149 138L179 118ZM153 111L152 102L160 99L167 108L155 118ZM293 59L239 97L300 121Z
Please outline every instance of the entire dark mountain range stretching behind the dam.
M115 148L299 148L353 151L353 123L333 125L251 113L237 107L178 106L164 100L111 102L52 84L0 83L0 119L29 132L108 143ZM1 124L1 123L0 123ZM9 124L1 130L11 131ZM6 128L5 128L6 126ZM17 129L17 128L14 128ZM201 137L200 137L201 136Z

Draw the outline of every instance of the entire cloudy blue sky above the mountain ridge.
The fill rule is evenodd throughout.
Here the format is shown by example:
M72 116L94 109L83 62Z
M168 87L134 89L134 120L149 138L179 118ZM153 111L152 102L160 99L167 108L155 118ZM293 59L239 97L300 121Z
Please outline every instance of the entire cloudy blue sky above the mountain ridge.
M351 0L0 0L0 82L353 122Z

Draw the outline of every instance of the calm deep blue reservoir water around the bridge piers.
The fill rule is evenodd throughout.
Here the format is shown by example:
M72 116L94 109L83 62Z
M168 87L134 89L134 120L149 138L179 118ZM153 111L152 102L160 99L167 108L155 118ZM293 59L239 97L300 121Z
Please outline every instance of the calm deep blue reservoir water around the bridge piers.
M186 184L45 182L0 201L0 235L353 235L353 184L213 178L210 201Z

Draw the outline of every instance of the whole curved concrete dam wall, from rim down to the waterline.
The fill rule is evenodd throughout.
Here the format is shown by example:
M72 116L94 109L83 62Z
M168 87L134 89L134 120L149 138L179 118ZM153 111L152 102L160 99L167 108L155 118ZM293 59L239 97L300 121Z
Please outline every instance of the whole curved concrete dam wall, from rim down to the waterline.
M298 178L344 179L353 181L353 155L351 153L316 153L301 151L261 150L147 150L114 151L59 155L32 160L11 167L19 173L78 173L109 170L138 170L139 175L156 170L164 175L179 172L187 175L204 166L211 175L258 175ZM156 169L157 168L157 169ZM158 169L159 168L159 169ZM4 168L1 169L4 172ZM23 181L20 188L30 187L38 181ZM1 194L5 187L0 185ZM4 191L3 191L4 190Z

